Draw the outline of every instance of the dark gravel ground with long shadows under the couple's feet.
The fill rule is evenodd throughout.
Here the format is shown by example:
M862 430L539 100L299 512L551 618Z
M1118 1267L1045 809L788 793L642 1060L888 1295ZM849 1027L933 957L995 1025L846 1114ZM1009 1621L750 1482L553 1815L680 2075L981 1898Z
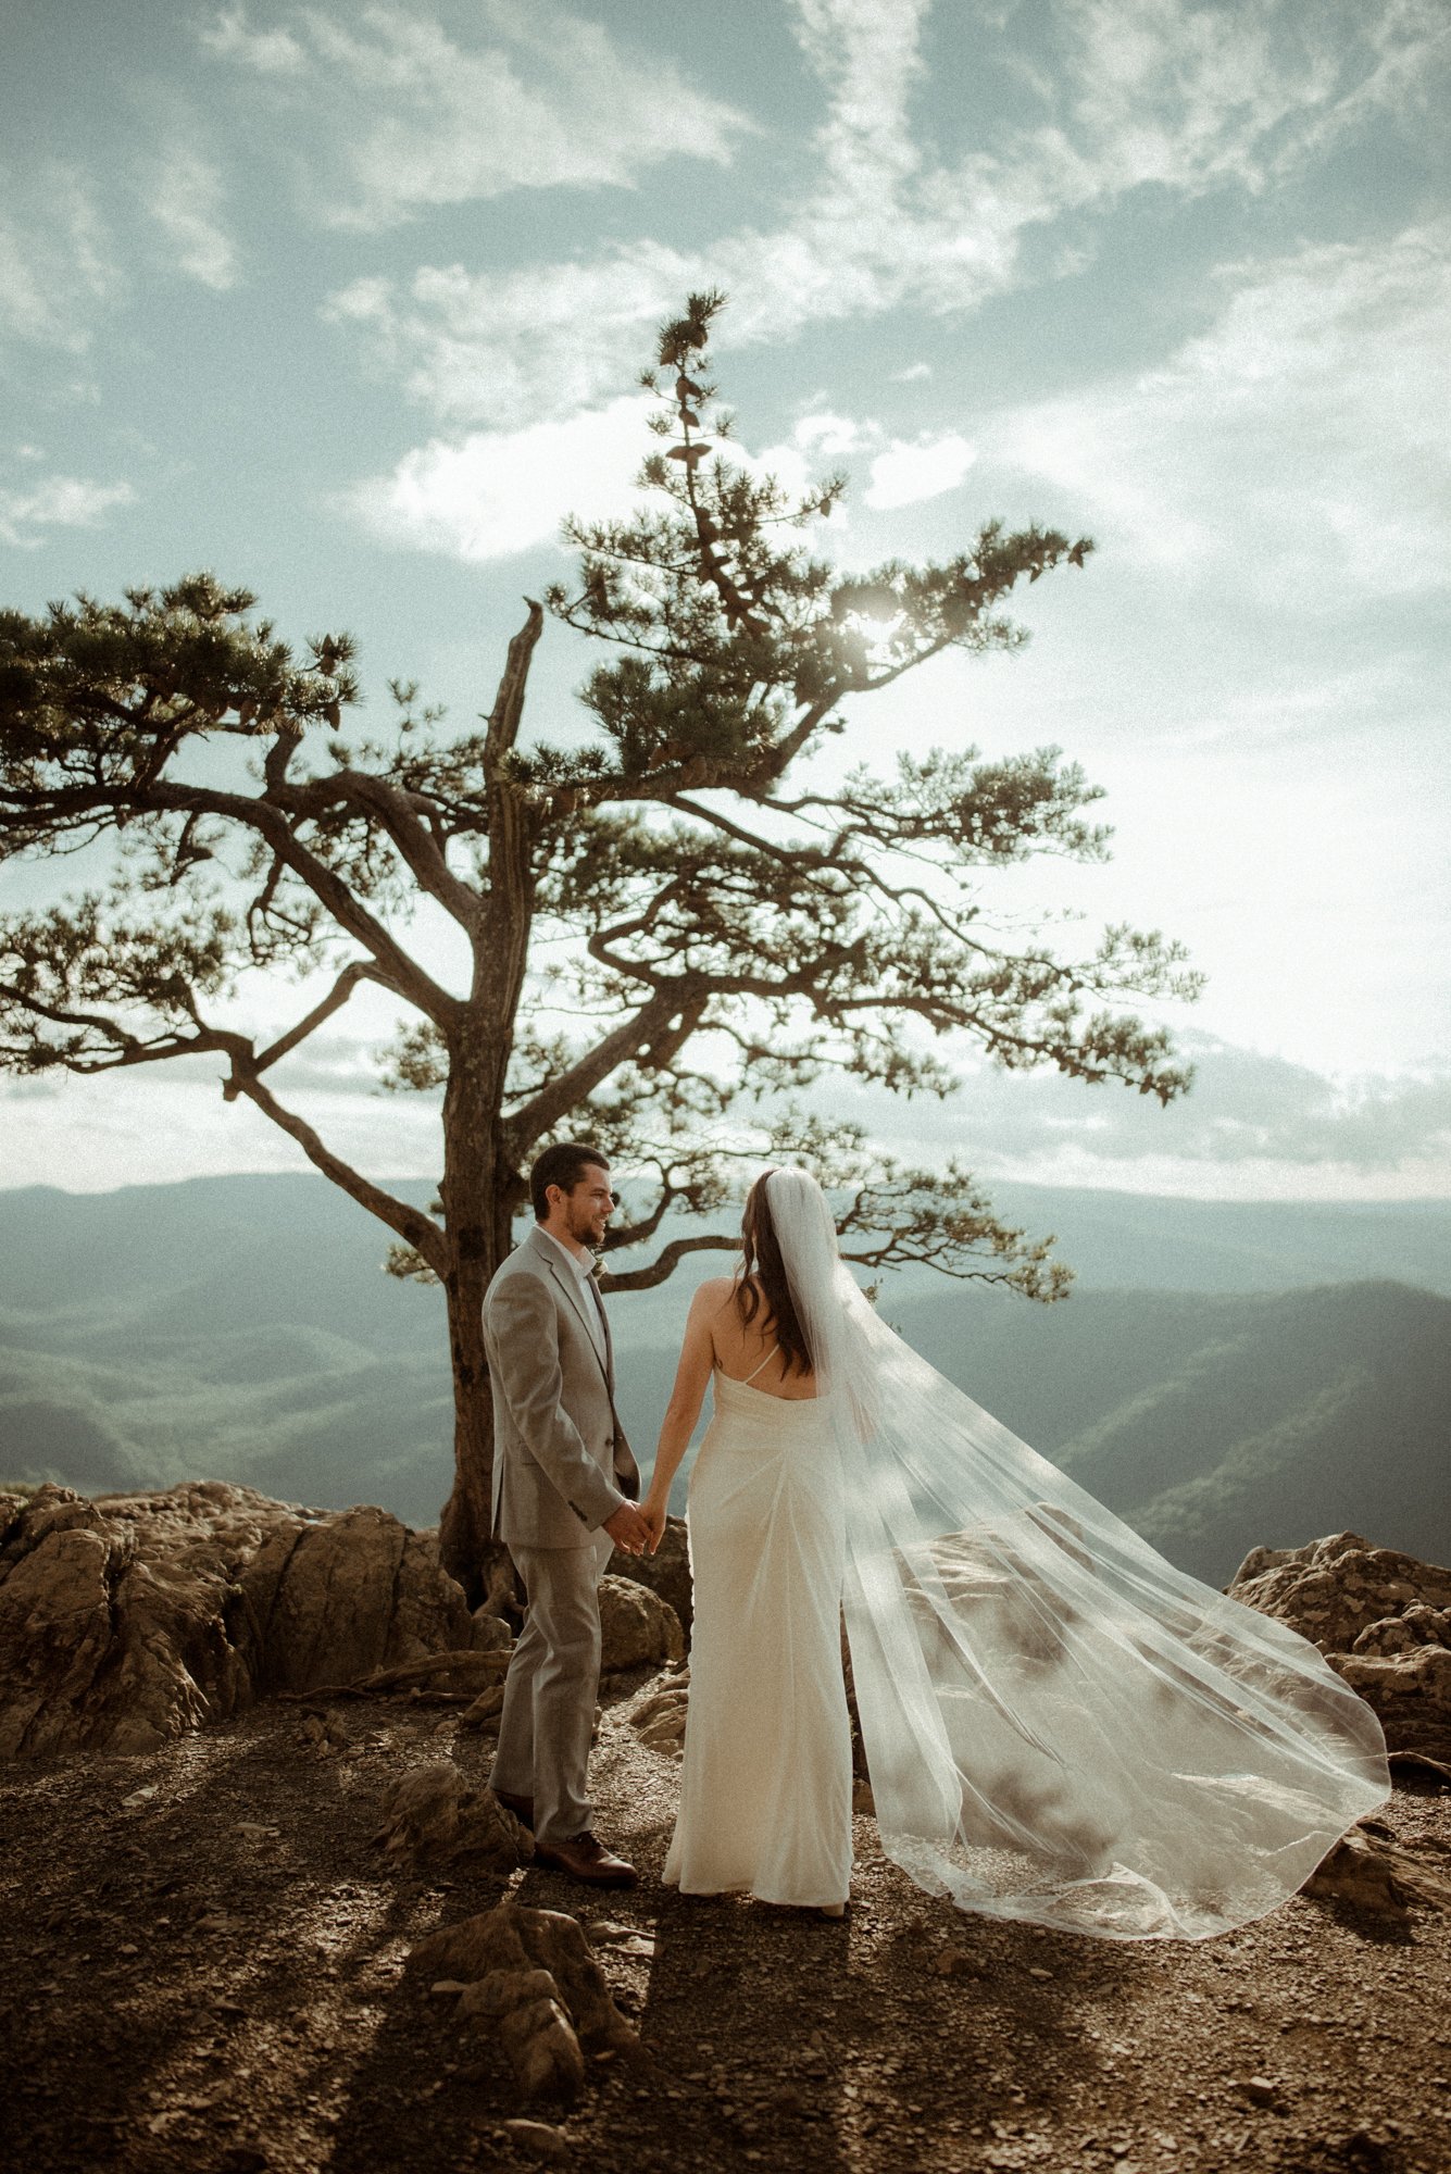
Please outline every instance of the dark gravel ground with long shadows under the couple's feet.
M552 1872L523 1902L595 1926L639 2067L556 2120L406 1972L500 1898L415 1878L371 1837L384 1787L487 1746L437 1707L267 1704L146 1759L9 1767L4 2163L128 2174L719 2167L917 2174L1451 2174L1451 1917L1410 1935L1297 1896L1208 1946L1112 1946L930 1902L856 1822L843 1924L660 1887L678 1763L610 1687L600 1831L639 1889ZM1451 1796L1397 1789L1397 1837L1451 1872ZM539 2113L543 2137L504 2124Z

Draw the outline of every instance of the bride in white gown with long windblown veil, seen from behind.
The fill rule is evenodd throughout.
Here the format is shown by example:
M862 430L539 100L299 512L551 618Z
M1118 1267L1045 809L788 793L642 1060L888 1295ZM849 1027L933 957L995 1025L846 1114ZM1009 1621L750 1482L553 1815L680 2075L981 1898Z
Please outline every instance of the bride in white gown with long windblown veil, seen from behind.
M851 1726L882 1848L962 1909L1208 1939L1388 1794L1371 1709L1286 1624L1173 1570L878 1320L802 1170L691 1304L641 1504L689 1496L695 1628L665 1878L841 1915Z

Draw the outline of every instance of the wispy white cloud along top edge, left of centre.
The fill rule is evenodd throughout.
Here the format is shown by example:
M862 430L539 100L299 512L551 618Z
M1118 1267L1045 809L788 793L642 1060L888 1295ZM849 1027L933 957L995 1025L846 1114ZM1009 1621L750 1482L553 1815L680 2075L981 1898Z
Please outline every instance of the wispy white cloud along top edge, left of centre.
M315 209L363 230L513 189L630 187L673 157L726 163L749 126L673 63L550 0L489 0L482 15L489 43L424 9L298 9L267 33L230 9L204 43L306 122Z

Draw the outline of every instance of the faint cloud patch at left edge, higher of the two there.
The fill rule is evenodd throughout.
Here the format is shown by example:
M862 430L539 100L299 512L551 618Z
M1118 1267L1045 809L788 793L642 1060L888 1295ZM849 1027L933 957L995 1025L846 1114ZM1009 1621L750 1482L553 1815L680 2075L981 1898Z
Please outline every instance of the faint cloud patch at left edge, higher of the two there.
M89 180L65 163L0 167L0 337L85 352L119 272Z

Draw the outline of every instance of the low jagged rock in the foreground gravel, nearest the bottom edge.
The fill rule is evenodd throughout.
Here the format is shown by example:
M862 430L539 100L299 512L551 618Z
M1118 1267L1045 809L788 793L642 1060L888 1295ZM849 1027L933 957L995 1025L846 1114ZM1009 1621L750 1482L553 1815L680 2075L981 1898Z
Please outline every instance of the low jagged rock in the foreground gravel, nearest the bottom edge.
M589 1939L560 1911L500 1902L419 1941L408 1967L458 1996L460 2022L497 2037L523 2098L569 2102L586 2054L639 2050Z

